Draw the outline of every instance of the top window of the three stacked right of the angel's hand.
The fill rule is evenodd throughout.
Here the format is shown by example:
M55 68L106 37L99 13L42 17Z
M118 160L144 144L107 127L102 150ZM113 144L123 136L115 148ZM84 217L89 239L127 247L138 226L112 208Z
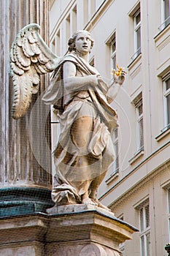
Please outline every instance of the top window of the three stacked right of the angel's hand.
M133 15L134 20L134 60L141 53L141 12L137 10Z

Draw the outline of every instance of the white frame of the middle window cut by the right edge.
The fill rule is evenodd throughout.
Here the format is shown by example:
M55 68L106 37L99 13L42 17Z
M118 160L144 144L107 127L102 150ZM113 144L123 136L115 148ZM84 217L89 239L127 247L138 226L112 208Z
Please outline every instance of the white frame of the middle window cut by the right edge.
M170 79L170 74L166 75L166 78L163 79L163 105L164 105L164 128L163 130L169 129L170 128L170 120L169 120L169 116L170 116L170 106L168 108L168 102L167 102L167 97L170 97L170 88L166 89L166 82L167 80Z

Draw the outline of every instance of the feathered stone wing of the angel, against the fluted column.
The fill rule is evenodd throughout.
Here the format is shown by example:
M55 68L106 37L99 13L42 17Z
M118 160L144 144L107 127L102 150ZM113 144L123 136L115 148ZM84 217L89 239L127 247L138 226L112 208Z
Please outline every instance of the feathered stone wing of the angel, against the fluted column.
M10 75L14 86L12 117L15 119L25 115L32 94L39 90L39 75L52 72L60 60L48 48L39 29L36 23L25 26L10 50Z

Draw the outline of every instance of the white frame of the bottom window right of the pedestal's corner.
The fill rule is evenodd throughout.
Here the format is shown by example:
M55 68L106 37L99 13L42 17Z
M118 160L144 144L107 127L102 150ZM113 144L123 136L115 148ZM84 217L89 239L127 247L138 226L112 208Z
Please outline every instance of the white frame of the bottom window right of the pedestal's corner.
M147 226L147 218L146 218L146 211L145 211L147 206L149 206L149 214L150 214L149 200L147 200L146 203L142 204L142 206L139 207L141 256L151 256L151 246L150 246L149 254L147 253L147 243L148 243L147 237L148 235L150 236L150 216L149 216L149 225ZM141 219L141 211L142 211L142 219Z

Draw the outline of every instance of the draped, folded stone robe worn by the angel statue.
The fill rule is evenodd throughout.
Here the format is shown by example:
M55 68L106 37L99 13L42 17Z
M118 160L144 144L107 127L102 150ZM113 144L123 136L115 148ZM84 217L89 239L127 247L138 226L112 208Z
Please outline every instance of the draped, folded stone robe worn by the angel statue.
M87 189L89 195L92 189L97 189L100 177L104 178L115 158L111 133L117 127L117 114L107 102L107 84L100 82L92 86L89 83L82 89L77 89L75 84L74 90L66 90L63 81L66 61L76 66L76 76L82 79L87 75L99 75L84 59L70 53L59 63L43 97L46 104L53 104L58 109L61 124L61 135L53 152L56 167L53 200L58 204L81 203L81 196ZM84 146L77 143L81 130L87 132Z

